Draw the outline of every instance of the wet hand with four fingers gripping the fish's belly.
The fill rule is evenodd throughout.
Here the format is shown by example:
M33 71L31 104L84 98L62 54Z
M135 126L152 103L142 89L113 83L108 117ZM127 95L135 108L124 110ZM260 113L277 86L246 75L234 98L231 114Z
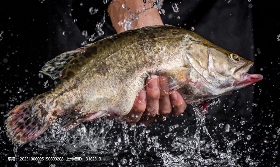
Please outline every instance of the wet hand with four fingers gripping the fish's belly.
M128 123L152 121L156 115L167 115L172 111L173 116L179 116L187 107L182 95L173 90L171 94L165 93L160 86L166 77L151 75L146 79L147 86L138 93L130 112L124 117ZM161 86L162 87L162 86ZM143 119L145 118L145 119ZM108 119L114 119L109 116Z

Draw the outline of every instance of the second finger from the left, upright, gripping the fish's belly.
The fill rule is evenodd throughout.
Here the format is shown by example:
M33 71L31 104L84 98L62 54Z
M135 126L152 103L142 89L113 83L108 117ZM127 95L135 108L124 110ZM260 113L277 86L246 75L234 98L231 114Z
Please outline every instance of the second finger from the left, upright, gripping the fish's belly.
M158 112L158 100L161 96L159 89L159 78L157 75L152 75L146 79L146 92L147 92L147 107L145 110L145 115L155 116Z

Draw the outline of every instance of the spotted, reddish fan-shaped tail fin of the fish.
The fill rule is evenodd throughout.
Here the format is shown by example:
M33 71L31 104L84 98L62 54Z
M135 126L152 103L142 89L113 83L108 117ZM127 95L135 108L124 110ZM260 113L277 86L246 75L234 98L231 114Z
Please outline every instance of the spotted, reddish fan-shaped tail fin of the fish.
M56 118L50 117L43 106L42 95L21 103L5 116L7 136L14 145L21 147L35 140L54 123Z

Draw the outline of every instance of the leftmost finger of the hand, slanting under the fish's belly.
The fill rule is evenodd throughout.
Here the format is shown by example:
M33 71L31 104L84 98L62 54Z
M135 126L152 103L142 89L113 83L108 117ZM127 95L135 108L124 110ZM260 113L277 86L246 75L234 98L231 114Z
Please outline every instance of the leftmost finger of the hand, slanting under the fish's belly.
M145 111L147 105L147 95L145 90L141 90L136 96L134 104L130 112L124 116L126 122L136 123L142 117L143 112Z

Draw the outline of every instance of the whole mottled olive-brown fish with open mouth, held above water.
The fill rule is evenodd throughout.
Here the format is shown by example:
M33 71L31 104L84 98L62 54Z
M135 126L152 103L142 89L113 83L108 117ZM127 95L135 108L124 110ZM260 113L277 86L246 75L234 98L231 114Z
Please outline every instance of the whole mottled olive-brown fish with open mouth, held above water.
M128 30L47 62L40 72L59 83L6 115L7 137L21 147L55 122L68 131L108 115L121 119L154 74L164 77L164 92L177 90L186 103L202 103L262 80L247 74L252 65L183 28Z

